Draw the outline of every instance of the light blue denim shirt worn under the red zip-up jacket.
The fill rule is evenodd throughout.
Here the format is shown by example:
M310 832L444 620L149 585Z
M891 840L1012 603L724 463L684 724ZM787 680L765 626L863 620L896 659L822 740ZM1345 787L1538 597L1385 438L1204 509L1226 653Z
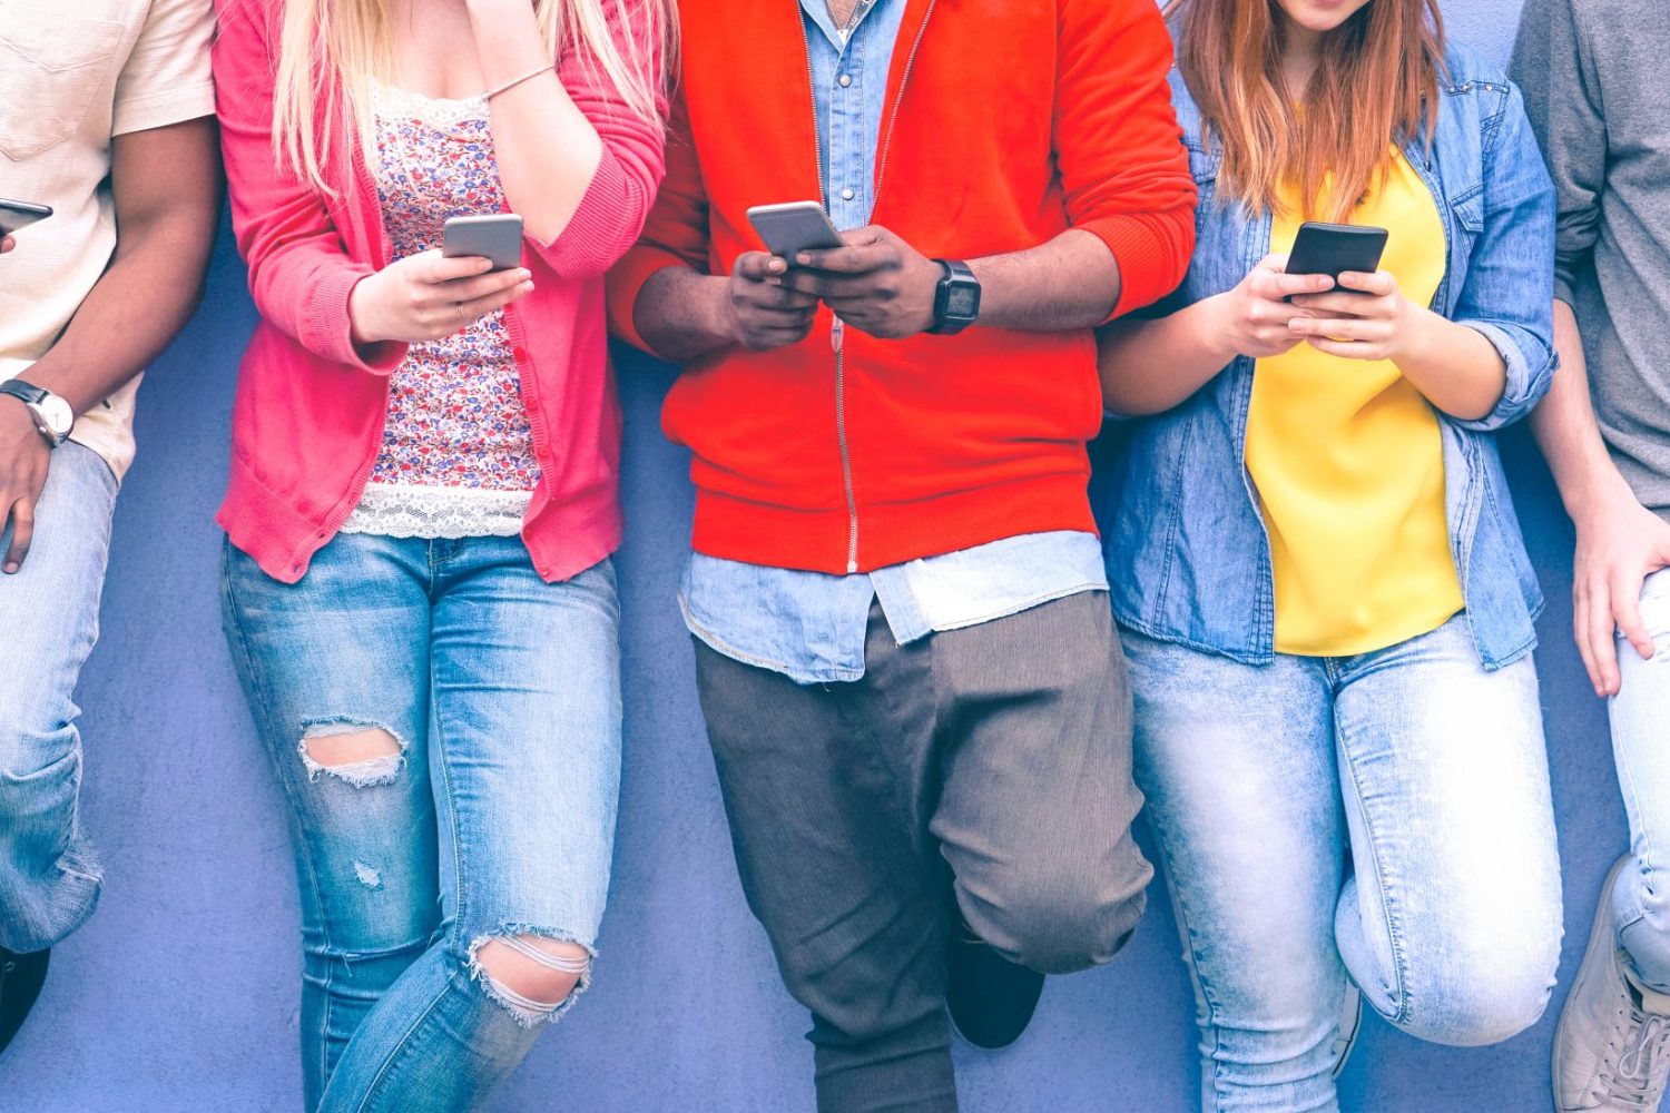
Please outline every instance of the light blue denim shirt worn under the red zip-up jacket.
M838 229L870 222L887 72L905 0L875 0L850 38L825 0L800 0L823 150L825 204ZM1101 544L1062 531L994 541L858 576L762 567L691 554L680 602L690 632L736 661L802 684L863 676L870 601L900 644L979 626L1050 599L1107 587Z

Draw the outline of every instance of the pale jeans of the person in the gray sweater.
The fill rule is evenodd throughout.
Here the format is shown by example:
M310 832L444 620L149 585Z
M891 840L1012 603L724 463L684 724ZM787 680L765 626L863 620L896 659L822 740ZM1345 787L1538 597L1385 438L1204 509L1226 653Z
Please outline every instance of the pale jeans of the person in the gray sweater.
M1618 636L1622 684L1612 698L1612 753L1630 814L1635 868L1618 873L1618 943L1653 990L1670 993L1670 569L1642 586L1642 621L1658 652L1642 661Z

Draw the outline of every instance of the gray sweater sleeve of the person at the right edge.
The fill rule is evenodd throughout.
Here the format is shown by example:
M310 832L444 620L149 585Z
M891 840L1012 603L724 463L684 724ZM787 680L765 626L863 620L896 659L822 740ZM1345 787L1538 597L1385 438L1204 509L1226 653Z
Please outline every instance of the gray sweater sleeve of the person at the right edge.
M1607 180L1607 120L1593 75L1573 0L1528 0L1513 47L1513 80L1555 180L1555 297L1568 305L1595 247Z

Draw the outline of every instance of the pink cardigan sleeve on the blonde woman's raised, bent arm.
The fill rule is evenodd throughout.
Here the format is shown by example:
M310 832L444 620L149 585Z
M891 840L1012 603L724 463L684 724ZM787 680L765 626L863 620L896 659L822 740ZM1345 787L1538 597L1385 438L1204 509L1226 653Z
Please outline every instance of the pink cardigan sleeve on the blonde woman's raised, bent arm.
M655 27L645 7L631 5L630 25L623 27L620 20L611 18L610 30L620 42L623 57L628 58L635 55L628 52L626 37L635 37L636 57L648 57L660 75L661 50L651 42ZM568 227L549 244L533 239L529 242L556 274L566 279L590 279L620 262L643 232L650 205L655 204L655 190L666 169L663 127L666 103L658 100L655 120L640 118L615 93L603 67L578 50L569 50L563 57L559 77L574 105L598 130L603 140L603 160Z

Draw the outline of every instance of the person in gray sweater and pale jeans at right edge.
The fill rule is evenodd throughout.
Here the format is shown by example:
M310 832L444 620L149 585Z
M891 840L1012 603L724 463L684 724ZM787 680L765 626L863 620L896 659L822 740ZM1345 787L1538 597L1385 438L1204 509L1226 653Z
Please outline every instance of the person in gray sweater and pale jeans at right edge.
M1531 432L1576 524L1573 634L1608 698L1632 846L1560 1018L1560 1113L1657 1110L1670 1075L1667 55L1663 3L1530 0L1513 58L1560 199L1560 372Z

